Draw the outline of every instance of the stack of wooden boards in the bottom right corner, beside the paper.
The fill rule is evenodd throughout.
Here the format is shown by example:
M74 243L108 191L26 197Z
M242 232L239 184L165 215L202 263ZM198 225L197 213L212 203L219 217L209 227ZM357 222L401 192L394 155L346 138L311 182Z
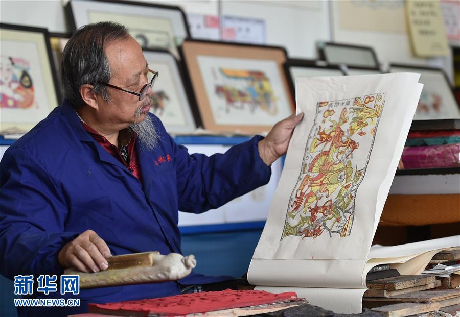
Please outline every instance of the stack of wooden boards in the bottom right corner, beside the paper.
M455 265L460 261L460 248L433 256L429 266L444 263ZM362 300L363 308L384 316L409 316L435 310L453 313L460 311L460 275L448 277L435 275L399 275L396 270L383 267L369 273L366 279L367 289ZM379 278L380 276L387 276ZM377 279L373 278L377 277Z

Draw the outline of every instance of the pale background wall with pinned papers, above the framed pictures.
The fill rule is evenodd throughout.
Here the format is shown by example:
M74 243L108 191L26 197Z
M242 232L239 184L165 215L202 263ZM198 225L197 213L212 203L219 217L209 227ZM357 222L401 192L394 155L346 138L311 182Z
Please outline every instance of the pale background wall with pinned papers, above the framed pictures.
M375 2L370 0L170 0L147 1L179 6L186 14L232 15L262 19L266 26L267 44L286 47L293 58L317 58L317 41L336 41L374 47L384 67L390 62L443 67L452 78L452 57L421 59L412 56L405 28L402 0ZM48 28L50 32L68 32L63 6L66 0L2 0L0 20L27 26ZM371 28L353 28L344 20L363 20L347 16L350 4L362 3L378 16L390 15L393 20L377 19ZM387 3L388 5L385 5ZM378 5L377 5L378 4ZM348 5L348 7L347 7ZM24 10L27 8L27 10ZM37 14L39 12L39 14ZM358 24L358 23L357 23ZM391 24L402 25L388 31ZM379 31L380 29L380 31ZM385 31L386 30L386 31ZM392 30L392 29L390 29Z

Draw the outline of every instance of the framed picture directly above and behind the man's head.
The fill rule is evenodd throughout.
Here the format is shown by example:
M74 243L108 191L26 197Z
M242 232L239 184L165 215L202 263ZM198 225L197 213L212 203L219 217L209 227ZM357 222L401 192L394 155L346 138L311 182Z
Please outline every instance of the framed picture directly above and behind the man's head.
M177 45L190 37L185 13L175 6L146 2L71 0L66 6L72 31L100 21L120 22L143 48L165 48L177 55Z

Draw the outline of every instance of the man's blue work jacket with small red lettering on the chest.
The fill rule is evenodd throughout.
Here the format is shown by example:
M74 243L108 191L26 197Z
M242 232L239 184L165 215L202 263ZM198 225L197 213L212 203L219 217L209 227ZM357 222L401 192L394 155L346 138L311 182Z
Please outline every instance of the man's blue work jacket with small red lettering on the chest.
M225 154L189 155L151 116L159 143L148 151L136 142L142 182L82 128L67 101L9 147L0 163L2 275L13 279L33 274L36 279L40 274L62 274L59 251L88 229L104 239L113 255L181 253L178 210L214 209L268 182L271 169L259 156L260 136ZM19 314L84 312L88 302L170 296L180 293L179 284L227 279L231 277L192 272L178 282L81 290L72 296L81 300L78 309L24 308ZM58 291L49 297L66 296Z

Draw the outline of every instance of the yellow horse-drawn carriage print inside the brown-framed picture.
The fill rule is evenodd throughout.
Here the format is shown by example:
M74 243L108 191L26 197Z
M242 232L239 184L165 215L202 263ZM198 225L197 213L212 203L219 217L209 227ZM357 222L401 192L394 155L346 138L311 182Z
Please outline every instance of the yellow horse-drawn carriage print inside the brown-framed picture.
M225 99L225 111L231 108L243 110L245 106L254 113L258 107L270 115L278 111L276 97L268 77L262 71L220 68L225 81L231 85L216 85L216 94ZM240 89L238 85L243 85Z

